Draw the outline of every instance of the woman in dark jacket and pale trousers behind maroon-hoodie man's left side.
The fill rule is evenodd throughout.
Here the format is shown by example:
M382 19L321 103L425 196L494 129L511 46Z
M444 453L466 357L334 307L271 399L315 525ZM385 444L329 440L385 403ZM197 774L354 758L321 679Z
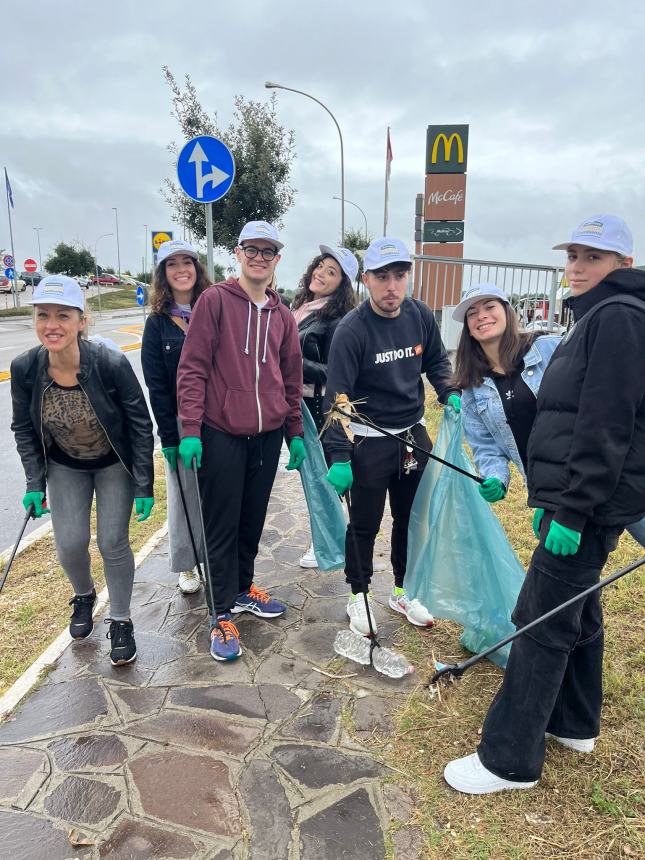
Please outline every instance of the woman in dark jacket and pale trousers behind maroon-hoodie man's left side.
M203 562L204 550L195 480L186 473L177 457L177 367L193 306L209 286L206 270L189 242L174 239L160 245L150 291L152 313L146 320L141 344L141 366L165 460L168 564L170 570L178 575L178 585L184 594L199 590L201 583L195 565L197 561ZM184 489L199 559L195 559L193 552L179 480Z

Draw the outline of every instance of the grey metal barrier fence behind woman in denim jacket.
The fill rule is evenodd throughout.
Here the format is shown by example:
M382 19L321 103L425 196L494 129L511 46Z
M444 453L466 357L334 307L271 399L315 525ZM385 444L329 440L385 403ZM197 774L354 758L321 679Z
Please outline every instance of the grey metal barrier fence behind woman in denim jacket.
M434 312L446 336L449 325L442 321L444 308L459 304L462 293L478 283L494 283L504 290L523 326L537 320L549 327L562 322L562 269L557 266L425 255L413 259L412 295Z

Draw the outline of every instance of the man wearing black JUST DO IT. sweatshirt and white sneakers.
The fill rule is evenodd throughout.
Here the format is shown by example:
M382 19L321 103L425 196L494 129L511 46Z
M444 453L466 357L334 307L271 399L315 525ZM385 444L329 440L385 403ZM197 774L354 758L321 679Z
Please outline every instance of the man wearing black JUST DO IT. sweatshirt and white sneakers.
M392 511L394 587L389 606L419 627L432 615L403 588L408 523L427 456L412 455L406 439L428 450L424 426L426 374L439 400L460 409L459 389L451 386L452 367L430 309L406 297L410 254L398 239L377 239L365 252L363 282L369 299L341 320L329 355L325 410L339 394L360 400L358 410L399 436L398 440L350 424L354 442L338 424L323 436L331 462L327 480L343 495L351 488L351 515L345 539L345 576L351 586L347 603L350 629L369 635L366 600L373 572L374 542L389 493ZM376 624L373 622L375 629Z

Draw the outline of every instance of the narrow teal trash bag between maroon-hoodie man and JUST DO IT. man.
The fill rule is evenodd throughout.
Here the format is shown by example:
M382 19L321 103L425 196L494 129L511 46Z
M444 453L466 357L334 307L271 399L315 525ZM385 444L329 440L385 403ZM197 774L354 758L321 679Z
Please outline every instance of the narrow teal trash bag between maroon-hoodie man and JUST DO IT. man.
M345 515L338 493L325 479L327 463L314 419L304 402L301 405L307 456L300 467L300 477L309 509L314 552L320 570L338 570L345 566Z

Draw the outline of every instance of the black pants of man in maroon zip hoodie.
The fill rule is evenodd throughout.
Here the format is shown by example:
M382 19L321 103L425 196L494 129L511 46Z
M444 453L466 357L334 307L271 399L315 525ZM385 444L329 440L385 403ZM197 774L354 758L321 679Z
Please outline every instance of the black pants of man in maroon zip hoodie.
M232 436L204 424L202 446L198 474L214 609L227 612L253 582L282 429Z

